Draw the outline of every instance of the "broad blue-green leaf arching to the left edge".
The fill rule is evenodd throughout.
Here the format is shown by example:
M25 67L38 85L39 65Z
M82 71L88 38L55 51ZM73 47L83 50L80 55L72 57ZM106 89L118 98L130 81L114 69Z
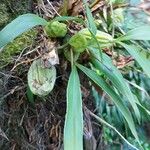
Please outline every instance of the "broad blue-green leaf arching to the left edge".
M47 21L35 14L21 15L0 31L0 48L7 45L23 32L37 26L46 25Z

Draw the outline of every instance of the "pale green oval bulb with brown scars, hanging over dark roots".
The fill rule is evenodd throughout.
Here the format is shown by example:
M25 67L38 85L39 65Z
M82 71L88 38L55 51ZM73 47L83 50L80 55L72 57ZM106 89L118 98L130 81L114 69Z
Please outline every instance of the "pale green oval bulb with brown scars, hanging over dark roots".
M28 71L28 85L33 94L38 96L48 95L55 84L56 69L44 68L42 60L35 60Z

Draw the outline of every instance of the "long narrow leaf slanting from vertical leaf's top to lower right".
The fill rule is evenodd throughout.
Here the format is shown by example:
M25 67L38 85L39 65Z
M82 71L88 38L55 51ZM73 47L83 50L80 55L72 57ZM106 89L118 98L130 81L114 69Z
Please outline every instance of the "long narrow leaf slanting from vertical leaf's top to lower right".
M117 108L120 110L124 118L126 119L129 128L136 138L136 140L139 142L138 135L135 129L135 124L133 121L133 118L131 116L130 111L128 108L123 104L121 98L118 94L114 92L114 90L101 78L99 75L95 73L95 71L90 70L82 65L77 64L77 66L92 80L94 81L98 86L100 86L113 100L113 102L116 104ZM139 142L140 143L140 142Z

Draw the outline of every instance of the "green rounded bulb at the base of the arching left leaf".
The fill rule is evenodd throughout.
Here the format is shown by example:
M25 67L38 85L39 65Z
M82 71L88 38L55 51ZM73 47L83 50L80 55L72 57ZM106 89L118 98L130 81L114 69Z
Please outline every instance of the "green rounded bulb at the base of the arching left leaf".
M67 34L67 25L58 21L51 21L44 30L49 37L64 37Z

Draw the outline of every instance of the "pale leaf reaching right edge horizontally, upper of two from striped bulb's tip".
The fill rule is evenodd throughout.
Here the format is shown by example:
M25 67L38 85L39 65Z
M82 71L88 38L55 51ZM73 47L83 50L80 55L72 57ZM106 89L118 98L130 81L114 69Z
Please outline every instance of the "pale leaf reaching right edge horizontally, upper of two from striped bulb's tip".
M140 26L130 30L124 36L120 37L119 40L150 40L150 25Z

